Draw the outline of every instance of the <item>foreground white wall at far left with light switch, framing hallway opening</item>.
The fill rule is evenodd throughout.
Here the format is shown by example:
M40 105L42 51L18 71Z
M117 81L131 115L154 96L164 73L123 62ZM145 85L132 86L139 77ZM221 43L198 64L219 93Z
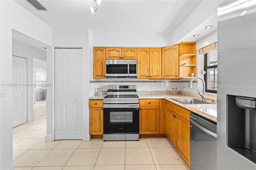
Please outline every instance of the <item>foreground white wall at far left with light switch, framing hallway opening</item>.
M0 83L12 83L12 29L52 45L52 28L14 0L0 1ZM1 88L2 89L2 88ZM12 88L0 99L0 169L12 164Z

